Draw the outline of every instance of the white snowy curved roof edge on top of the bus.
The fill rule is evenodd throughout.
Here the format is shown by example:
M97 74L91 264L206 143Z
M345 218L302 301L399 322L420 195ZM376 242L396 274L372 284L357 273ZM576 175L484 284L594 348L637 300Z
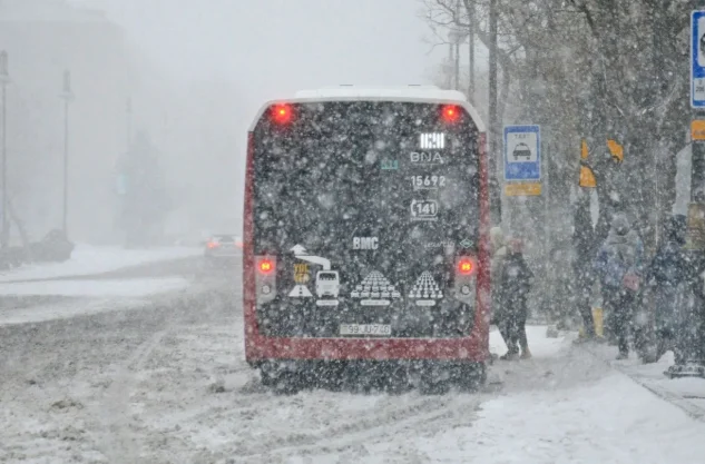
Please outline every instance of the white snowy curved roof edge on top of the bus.
M268 101L260 111L252 124L253 130L267 107L276 102L312 102L312 101L418 101L454 103L462 106L472 117L478 130L484 132L484 122L478 110L468 102L466 96L458 90L443 90L435 86L407 86L407 87L363 87L363 86L336 86L324 87L316 90L300 90L293 98Z

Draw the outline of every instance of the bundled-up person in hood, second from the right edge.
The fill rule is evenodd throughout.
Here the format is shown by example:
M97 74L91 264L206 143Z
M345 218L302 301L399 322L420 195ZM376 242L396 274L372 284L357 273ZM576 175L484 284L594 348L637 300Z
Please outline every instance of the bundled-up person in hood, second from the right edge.
M642 239L631 228L625 214L615 214L594 266L600 278L605 306L613 315L613 329L619 348L617 359L626 359L629 356L629 335L634 328L635 302L642 279L643 259Z

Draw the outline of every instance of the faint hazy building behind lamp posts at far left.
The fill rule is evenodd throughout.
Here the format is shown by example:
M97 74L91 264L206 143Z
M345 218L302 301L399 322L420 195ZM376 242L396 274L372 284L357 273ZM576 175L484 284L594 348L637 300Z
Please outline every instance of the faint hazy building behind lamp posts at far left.
M0 0L0 49L9 53L8 176L32 238L61 226L62 75L76 96L69 110L69 235L117 237L115 172L127 146L126 98L137 81L119 27L101 12L62 0Z

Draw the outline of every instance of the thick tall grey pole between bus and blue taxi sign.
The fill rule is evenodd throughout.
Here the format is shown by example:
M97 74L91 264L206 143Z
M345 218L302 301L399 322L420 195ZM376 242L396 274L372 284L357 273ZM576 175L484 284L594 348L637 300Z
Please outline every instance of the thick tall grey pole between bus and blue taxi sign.
M490 0L490 47L489 47L489 160L490 160L490 217L493 225L501 224L501 188L498 180L499 166L499 142L497 121L497 22L498 22L497 0Z

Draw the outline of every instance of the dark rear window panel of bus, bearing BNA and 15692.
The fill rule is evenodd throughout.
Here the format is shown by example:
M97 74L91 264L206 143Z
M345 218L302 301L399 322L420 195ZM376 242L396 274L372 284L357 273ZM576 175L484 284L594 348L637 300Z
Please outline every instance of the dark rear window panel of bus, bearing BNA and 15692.
M452 120L435 103L286 108L286 120L265 111L255 128L257 253L295 244L343 253L382 237L408 253L474 245L478 131L460 107Z

